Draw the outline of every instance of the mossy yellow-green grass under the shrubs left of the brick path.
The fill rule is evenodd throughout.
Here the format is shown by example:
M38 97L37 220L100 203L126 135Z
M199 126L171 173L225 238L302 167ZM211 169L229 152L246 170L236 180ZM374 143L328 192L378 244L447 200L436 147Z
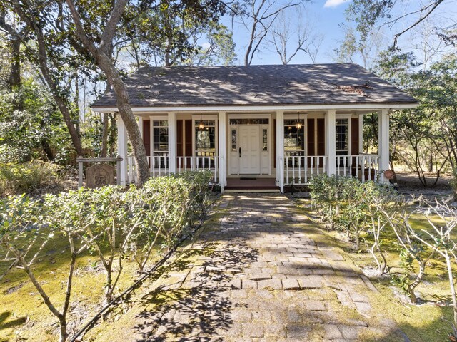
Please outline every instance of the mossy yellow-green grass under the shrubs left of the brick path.
M158 252L158 251L157 251ZM0 249L0 255L4 250ZM154 254L158 257L158 254ZM76 259L69 316L69 331L77 331L87 318L93 316L104 300L106 272L99 257L84 252ZM98 262L97 262L98 261ZM151 260L151 261L154 261ZM0 263L0 274L4 274L11 263ZM68 240L53 239L32 266L51 302L61 310L70 264ZM115 294L129 287L137 278L136 263L123 261L123 274L116 286ZM114 263L114 269L117 261ZM114 271L114 276L116 276ZM57 341L59 324L44 304L26 273L11 269L0 280L0 341ZM75 329L76 328L76 329Z

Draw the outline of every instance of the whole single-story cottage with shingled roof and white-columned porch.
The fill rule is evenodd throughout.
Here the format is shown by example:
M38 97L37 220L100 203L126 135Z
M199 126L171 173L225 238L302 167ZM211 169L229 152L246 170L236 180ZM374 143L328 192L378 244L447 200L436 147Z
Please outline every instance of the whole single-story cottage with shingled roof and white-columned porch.
M140 68L126 79L151 176L209 169L221 190L313 175L386 182L389 114L417 101L356 64ZM114 92L92 109L116 113ZM378 113L378 154L364 154L363 115ZM118 115L121 184L133 182ZM238 182L238 183L237 183Z

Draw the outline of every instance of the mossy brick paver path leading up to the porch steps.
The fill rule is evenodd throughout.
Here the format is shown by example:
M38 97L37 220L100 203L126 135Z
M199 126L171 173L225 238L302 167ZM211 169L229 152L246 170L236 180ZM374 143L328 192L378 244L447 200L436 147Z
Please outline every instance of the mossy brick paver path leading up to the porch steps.
M225 195L145 296L136 341L403 341L376 289L283 195Z

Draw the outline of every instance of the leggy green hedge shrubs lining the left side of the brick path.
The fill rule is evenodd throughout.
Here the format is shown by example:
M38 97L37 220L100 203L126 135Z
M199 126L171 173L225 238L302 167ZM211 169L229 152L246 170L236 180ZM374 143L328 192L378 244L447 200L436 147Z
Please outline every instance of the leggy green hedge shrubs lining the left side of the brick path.
M6 273L0 279L16 266L23 269L59 321L60 341L66 341L71 289L81 281L74 276L79 255L89 253L99 259L105 274L105 281L98 284L104 288L100 301L111 301L119 293L116 285L124 276L126 259L136 261L138 272L145 271L153 251L167 251L201 219L209 205L210 180L209 172L186 172L155 177L143 187L132 185L126 190L81 187L46 195L44 200L7 197L0 202L0 255L10 266L2 268ZM46 246L56 239L67 241L62 247L70 250L71 259L66 269L59 270L67 273L59 296L57 289L50 291L38 280L41 274L36 266Z

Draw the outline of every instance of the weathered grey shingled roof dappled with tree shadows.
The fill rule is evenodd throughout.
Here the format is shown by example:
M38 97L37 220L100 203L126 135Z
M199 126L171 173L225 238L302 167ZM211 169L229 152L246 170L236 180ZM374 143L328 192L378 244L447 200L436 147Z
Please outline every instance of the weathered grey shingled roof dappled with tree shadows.
M417 102L356 64L146 67L126 86L132 107ZM92 104L106 107L116 107L112 90Z

